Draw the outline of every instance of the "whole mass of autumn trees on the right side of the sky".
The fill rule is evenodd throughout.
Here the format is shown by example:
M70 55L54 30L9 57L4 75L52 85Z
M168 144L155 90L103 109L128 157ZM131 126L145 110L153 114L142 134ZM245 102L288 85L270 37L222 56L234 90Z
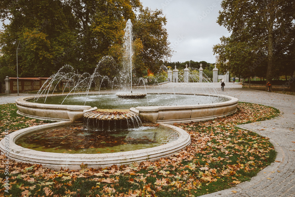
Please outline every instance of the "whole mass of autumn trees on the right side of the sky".
M294 1L223 0L221 6L217 22L232 32L213 47L223 71L267 81L294 76Z

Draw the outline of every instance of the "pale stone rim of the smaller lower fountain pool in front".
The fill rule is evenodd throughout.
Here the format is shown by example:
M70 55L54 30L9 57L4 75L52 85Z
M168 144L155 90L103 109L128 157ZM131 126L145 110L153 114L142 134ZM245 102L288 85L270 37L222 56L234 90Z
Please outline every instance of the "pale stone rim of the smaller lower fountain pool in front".
M126 152L113 152L103 154L70 154L70 153L54 153L54 152L42 152L24 148L15 144L16 141L24 136L30 135L34 132L44 129L54 129L59 126L68 126L73 122L58 122L50 123L39 126L33 126L24 128L19 131L15 131L9 134L9 158L16 162L25 162L31 164L42 164L43 167L49 167L51 169L60 170L61 167L69 170L79 170L80 165L83 162L88 167L108 167L112 165L130 164L132 162L142 161L155 161L162 157L169 157L174 153L180 151L190 144L191 139L188 133L181 128L160 124L165 128L172 129L177 133L178 139L168 142L167 144L155 146L152 148L126 151ZM5 140L0 142L0 150L3 154L5 151ZM143 151L144 150L144 151Z

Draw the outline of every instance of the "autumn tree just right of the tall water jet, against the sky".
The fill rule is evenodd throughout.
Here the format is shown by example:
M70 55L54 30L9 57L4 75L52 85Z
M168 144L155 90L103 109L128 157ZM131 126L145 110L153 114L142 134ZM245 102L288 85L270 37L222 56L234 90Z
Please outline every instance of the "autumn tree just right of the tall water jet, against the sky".
M149 8L140 8L140 13L133 23L133 31L135 38L140 39L142 43L142 51L137 57L142 60L137 63L142 68L141 71L150 69L158 72L164 62L171 57L168 33L164 28L166 22L162 10L152 11Z

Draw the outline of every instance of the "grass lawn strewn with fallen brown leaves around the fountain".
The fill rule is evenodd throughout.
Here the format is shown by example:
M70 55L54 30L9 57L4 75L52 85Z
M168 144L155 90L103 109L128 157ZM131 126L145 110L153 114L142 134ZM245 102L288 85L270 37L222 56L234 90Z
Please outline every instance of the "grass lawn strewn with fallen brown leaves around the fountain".
M0 105L0 139L9 132L44 124L16 114L15 104ZM0 179L9 176L9 193L0 196L201 196L250 180L274 162L276 152L268 139L237 128L237 124L278 116L277 109L239 102L234 115L211 121L175 124L191 136L191 144L168 158L81 170L50 170L42 165L10 160L9 175L1 157Z

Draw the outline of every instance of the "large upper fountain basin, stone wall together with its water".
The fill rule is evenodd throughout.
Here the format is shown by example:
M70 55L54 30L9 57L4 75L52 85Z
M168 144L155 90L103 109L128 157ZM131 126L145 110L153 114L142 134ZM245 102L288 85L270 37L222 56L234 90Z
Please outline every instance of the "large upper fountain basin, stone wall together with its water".
M204 97L201 101L197 96ZM53 95L47 97L47 101L60 100L59 104L64 100L65 96ZM79 97L70 94L75 102L64 103L66 105L58 105L58 102L51 104L42 104L28 102L34 97L25 97L16 100L18 113L32 118L49 119L49 120L82 120L83 113L91 110L100 109L128 109L139 115L142 122L145 123L183 123L191 121L203 121L230 115L236 112L238 99L235 97L224 95L209 94L183 94L183 93L149 93L147 99L122 99L116 95L109 94L80 94ZM113 98L114 97L114 98ZM41 98L42 99L42 98ZM93 103L90 103L94 100ZM124 103L120 103L124 100ZM214 101L216 100L216 101ZM107 101L112 103L106 104ZM156 102L155 102L156 101ZM220 102L221 101L221 102ZM212 103L213 102L213 103ZM142 106L142 107L138 107ZM76 109L75 109L76 108ZM60 110L62 109L62 110Z

